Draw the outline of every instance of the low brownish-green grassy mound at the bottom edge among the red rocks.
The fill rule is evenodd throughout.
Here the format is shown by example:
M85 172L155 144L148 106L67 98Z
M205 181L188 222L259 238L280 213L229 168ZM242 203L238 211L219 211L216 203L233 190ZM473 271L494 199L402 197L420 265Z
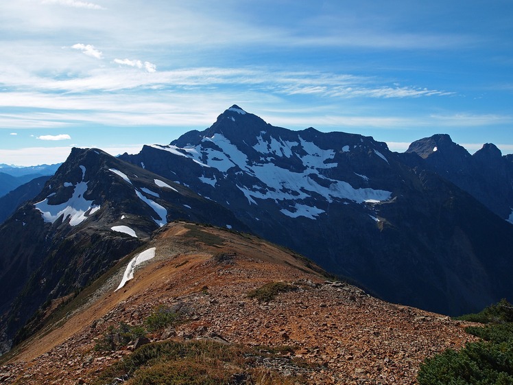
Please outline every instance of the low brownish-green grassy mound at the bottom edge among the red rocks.
M298 376L285 377L262 365L273 358L272 353L257 348L208 340L155 342L105 369L93 385L110 384L116 378L130 380L132 385L304 383Z

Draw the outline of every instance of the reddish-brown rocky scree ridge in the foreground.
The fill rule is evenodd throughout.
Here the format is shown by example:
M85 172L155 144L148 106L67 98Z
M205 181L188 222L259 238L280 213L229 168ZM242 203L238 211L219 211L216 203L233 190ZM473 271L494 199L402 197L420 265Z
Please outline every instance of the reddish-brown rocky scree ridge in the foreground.
M152 249L154 257L116 290L130 261ZM276 282L294 290L268 302L248 297ZM300 384L415 384L425 357L473 339L464 323L326 281L311 261L257 237L171 223L64 305L63 320L16 347L0 367L3 384L97 383L108 366L130 356L133 342L116 351L97 351L95 343L121 321L143 326L159 305L181 309L185 318L150 334L152 341L285 346L280 358L259 365L296 375Z

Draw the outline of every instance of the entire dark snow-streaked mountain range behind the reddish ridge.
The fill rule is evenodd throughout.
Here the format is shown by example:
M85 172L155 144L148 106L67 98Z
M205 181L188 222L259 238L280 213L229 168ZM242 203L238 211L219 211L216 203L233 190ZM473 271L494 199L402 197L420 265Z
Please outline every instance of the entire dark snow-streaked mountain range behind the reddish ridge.
M178 219L254 233L387 301L479 310L513 292L512 170L494 145L471 156L436 135L398 154L372 137L271 126L236 105L136 155L73 149L0 226L4 347L45 301Z

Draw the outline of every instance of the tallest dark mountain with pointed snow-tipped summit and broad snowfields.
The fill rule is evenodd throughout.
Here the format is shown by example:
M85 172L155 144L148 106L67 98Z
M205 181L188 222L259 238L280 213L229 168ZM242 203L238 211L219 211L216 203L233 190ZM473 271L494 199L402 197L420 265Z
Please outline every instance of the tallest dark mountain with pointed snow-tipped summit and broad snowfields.
M388 301L460 314L512 292L513 226L443 176L441 165L466 170L472 158L451 143L442 135L418 143L420 156L396 154L370 137L291 131L232 106L203 132L121 159Z

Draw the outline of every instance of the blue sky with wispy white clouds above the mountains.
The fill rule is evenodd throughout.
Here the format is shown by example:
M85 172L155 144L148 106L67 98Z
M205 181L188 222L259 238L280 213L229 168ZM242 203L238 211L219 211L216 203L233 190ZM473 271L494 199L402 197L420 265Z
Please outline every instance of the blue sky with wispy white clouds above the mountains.
M510 0L2 1L0 52L0 163L139 152L232 104L398 152L448 133L513 153Z

